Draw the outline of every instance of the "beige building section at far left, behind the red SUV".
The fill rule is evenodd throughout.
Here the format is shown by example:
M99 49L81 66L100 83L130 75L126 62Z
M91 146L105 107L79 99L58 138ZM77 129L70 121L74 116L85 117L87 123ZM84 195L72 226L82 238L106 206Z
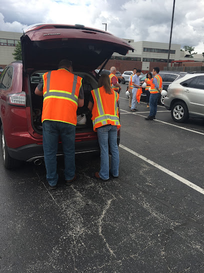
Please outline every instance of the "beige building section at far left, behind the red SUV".
M0 66L4 68L14 61L12 53L22 33L0 31Z

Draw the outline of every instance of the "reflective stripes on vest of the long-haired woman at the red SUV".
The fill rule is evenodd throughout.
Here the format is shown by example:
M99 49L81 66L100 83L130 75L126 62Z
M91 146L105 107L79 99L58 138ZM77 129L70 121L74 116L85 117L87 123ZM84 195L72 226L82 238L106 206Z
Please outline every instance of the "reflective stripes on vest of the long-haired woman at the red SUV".
M117 125L118 127L120 127L118 109L117 109L117 97L118 97L117 93L114 92L114 114L105 113L103 109L103 105L102 105L102 99L101 99L99 88L92 90L91 93L93 93L92 95L95 98L94 101L96 102L97 112L98 112L98 116L96 116L95 118L93 117L92 119L93 129L95 130L97 127L100 127L106 124Z

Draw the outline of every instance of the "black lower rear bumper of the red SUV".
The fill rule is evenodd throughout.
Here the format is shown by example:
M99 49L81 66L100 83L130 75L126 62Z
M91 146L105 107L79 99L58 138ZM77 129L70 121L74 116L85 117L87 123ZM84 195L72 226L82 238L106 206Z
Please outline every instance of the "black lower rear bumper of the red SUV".
M43 159L44 152L42 145L30 144L21 146L19 148L7 148L8 154L11 158L21 161L33 161L35 159ZM100 151L100 147L97 140L87 142L76 142L75 143L75 154L80 153L91 153ZM62 156L62 144L58 144L57 156Z

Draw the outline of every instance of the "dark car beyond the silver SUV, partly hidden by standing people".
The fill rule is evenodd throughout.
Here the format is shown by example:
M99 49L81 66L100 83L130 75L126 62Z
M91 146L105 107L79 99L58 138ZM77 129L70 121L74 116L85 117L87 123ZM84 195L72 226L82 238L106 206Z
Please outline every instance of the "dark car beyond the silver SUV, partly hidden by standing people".
M159 71L158 73L161 78L162 78L162 84L163 84L163 89L167 90L168 85L173 82L174 80L177 80L181 77L183 77L184 75L187 74L187 72L179 72L179 71ZM143 75L142 77L140 77L139 81L144 81L144 79L146 78L146 74ZM142 88L142 93L141 93L141 98L146 97L146 93L145 93L145 88ZM159 103L161 105L164 104L164 97L160 95L160 99L159 99Z

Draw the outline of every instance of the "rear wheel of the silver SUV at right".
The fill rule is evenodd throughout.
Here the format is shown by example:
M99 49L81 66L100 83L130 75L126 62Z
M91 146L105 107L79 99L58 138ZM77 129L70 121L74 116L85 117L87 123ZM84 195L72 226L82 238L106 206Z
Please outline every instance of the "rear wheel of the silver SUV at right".
M176 101L171 107L171 117L176 122L186 121L189 118L186 104L182 101Z

